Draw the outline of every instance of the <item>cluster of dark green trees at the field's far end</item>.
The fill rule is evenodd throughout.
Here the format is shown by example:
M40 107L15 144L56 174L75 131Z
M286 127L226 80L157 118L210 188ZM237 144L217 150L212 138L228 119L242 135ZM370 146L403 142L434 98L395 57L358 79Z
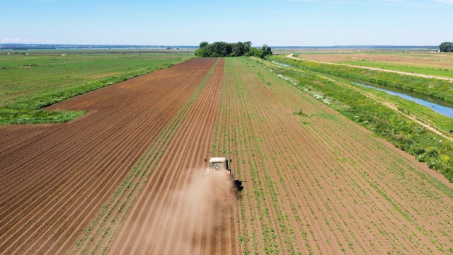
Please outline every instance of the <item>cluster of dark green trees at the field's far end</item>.
M264 58L272 55L272 50L268 45L263 45L261 49L251 47L252 43L248 42L201 42L200 49L195 51L198 57L239 57L254 56Z

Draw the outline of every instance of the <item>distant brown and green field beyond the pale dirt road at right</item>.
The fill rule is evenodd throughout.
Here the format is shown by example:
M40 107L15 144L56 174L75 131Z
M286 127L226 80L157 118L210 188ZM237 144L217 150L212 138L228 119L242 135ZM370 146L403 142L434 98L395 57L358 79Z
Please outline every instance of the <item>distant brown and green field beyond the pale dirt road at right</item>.
M430 52L299 52L300 58L453 78L453 54Z

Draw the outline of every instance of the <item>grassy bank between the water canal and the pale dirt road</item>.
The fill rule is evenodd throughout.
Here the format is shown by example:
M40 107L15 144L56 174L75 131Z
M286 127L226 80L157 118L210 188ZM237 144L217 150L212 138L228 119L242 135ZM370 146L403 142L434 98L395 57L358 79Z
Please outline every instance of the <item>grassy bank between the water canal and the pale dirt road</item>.
M413 77L410 75L339 66L335 64L293 60L285 56L270 56L268 59L287 64L291 67L297 67L298 69L332 74L336 77L347 77L350 79L367 81L382 86L391 86L406 91L417 92L426 96L440 98L444 101L453 103L453 83L451 81Z

